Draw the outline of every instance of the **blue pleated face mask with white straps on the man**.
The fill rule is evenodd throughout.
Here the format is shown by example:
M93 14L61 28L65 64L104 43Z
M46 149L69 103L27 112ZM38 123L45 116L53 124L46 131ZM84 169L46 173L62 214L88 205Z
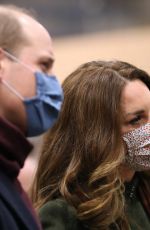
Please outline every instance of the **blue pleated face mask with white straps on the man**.
M14 61L34 72L28 65L22 63L10 53L5 54ZM27 136L34 137L46 132L56 121L63 100L62 88L55 76L43 72L35 72L36 96L23 98L8 82L2 83L17 95L24 103L27 114Z

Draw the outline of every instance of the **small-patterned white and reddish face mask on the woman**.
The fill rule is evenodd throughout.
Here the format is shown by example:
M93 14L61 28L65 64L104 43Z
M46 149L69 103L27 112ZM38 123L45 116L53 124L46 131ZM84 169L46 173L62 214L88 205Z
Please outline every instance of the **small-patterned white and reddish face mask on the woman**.
M135 171L150 169L150 123L123 135L126 163Z

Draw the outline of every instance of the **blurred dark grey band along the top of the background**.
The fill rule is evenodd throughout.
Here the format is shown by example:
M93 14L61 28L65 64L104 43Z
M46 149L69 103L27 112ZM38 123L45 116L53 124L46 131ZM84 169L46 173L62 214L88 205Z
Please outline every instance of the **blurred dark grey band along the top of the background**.
M53 36L150 24L149 0L1 0L34 9Z

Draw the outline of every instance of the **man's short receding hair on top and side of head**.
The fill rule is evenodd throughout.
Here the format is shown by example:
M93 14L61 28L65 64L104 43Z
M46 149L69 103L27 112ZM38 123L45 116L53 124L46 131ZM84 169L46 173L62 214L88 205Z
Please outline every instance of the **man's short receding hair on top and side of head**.
M21 15L34 18L31 12L13 5L0 5L0 47L12 54L17 54L29 40L18 20Z

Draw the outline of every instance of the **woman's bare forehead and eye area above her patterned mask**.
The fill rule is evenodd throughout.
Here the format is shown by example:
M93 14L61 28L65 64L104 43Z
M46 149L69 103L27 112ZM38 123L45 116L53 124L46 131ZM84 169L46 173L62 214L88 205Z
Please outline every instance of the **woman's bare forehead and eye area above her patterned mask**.
M140 80L127 83L121 98L122 134L150 122L150 90Z

